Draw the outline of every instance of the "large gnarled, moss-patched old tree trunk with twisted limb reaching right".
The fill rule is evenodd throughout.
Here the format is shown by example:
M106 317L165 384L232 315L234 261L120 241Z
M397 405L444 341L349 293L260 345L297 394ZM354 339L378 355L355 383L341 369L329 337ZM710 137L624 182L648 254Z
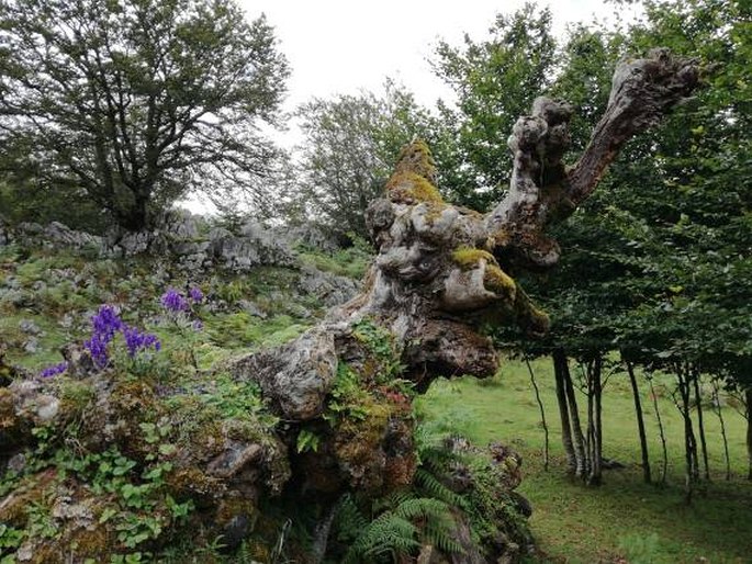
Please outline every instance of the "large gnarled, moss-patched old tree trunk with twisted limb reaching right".
M508 272L546 270L557 263L559 246L545 235L546 227L569 216L592 193L622 145L687 97L697 75L694 61L674 58L665 49L619 66L606 114L571 168L562 158L572 109L539 98L509 137L512 185L487 214L441 199L424 143L403 149L384 196L368 210L378 257L363 293L293 342L228 366L237 380L259 383L280 420L273 440L254 444L254 433L217 429L205 455L194 454L190 467L186 462L182 470L183 461L176 462L178 471L192 476L186 487L205 482L216 496L204 493L204 503L215 505L235 499L235 494L243 499L247 492L257 496L268 489L265 484L273 484L270 495L295 487L334 503L343 492L377 495L411 483L416 467L413 419L407 398L390 387L389 379L401 369L399 375L420 391L439 375L493 375L498 357L491 340L479 332L487 323L512 322L532 336L545 334L547 315ZM343 398L345 384L353 380L367 392L357 397L357 406ZM156 397L142 387L134 390ZM145 405L135 396L131 403L121 398L128 390L101 386L100 392L123 405ZM38 422L38 399L49 405L57 392L26 382L1 392L0 454L10 455L27 437L25 430ZM91 433L101 442L106 435L97 429L119 429L113 425L122 416L110 409L106 396L97 405L102 406L101 417ZM127 413L137 419L145 408ZM49 418L45 424L57 425ZM304 431L304 437L318 438L316 452L300 448ZM127 443L137 438L121 439Z

